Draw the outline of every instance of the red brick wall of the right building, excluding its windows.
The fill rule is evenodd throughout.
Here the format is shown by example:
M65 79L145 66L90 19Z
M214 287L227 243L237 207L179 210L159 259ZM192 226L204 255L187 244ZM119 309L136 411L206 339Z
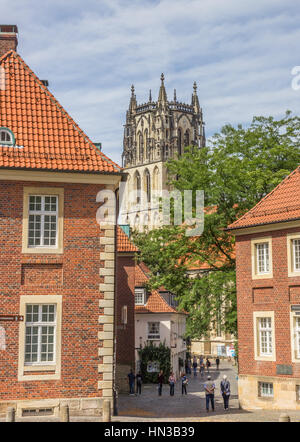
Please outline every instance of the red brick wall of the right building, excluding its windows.
M292 363L290 311L291 304L300 304L298 291L291 286L300 285L300 277L288 277L287 238L288 233L298 229L285 229L236 237L237 255L237 307L239 373L300 377L299 364ZM251 240L272 236L273 278L252 280ZM276 362L254 360L253 312L274 311ZM276 365L293 366L293 375L276 375Z

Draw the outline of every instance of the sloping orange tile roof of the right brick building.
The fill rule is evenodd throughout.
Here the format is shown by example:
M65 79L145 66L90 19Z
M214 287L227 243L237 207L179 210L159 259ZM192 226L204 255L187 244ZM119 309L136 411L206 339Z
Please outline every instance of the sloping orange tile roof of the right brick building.
M228 230L300 219L300 166Z

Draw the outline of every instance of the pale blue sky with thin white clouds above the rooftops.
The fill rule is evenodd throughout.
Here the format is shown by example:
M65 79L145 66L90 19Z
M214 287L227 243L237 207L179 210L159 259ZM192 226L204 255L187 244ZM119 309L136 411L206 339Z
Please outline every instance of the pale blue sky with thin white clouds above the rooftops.
M253 115L299 114L300 3L295 0L0 0L18 51L93 141L121 163L130 86L137 100L190 102L198 83L206 133Z

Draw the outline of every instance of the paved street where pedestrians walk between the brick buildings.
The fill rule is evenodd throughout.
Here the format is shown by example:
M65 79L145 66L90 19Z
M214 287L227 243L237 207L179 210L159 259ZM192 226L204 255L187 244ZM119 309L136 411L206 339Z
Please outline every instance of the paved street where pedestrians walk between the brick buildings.
M158 396L157 386L148 384L143 386L141 396L119 396L119 415L114 416L114 422L278 422L282 413L287 413L292 422L300 422L300 412L288 410L240 410L237 397L237 373L236 368L228 362L222 362L220 371L213 366L210 370L212 380L216 383L215 411L206 412L205 393L203 388L204 378L194 378L189 375L188 394L181 395L180 382L176 385L175 395L170 397L169 386L164 385L162 396ZM231 398L229 411L223 410L223 400L220 394L220 381L226 374L231 383ZM3 422L5 419L0 419ZM20 421L55 422L58 419L52 417L18 418ZM71 416L72 422L95 422L101 421L101 417L95 416Z

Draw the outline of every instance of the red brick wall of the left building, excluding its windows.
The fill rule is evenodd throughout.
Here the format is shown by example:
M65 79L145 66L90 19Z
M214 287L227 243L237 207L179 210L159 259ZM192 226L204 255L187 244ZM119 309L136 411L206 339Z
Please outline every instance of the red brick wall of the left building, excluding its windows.
M22 254L23 187L64 188L64 251ZM101 397L98 381L101 185L0 182L0 313L19 313L21 295L62 295L61 378L18 381L19 324L1 322L0 400ZM103 263L102 263L103 264ZM47 270L48 268L48 270Z

